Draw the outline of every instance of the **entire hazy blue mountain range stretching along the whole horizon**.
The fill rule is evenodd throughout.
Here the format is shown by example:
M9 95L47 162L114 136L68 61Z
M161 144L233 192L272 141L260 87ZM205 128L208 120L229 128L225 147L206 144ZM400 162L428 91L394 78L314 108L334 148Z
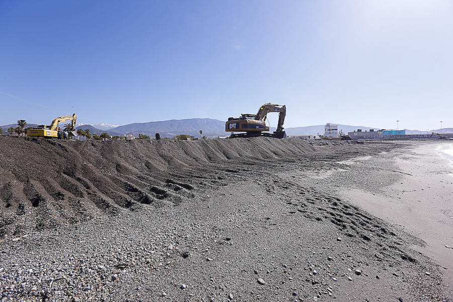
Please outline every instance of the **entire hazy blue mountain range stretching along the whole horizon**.
M338 130L342 130L344 133L352 132L357 129L362 131L369 131L370 129L380 130L382 128L373 128L365 126L351 126L351 125L338 125ZM1 126L6 132L10 127L16 127L17 124L10 124ZM27 126L35 127L36 124L28 124ZM147 122L147 123L132 123L122 126L116 126L108 128L109 124L78 124L77 129L89 129L91 134L101 134L106 132L111 136L119 136L125 134L133 134L138 136L138 134L146 134L151 137L154 137L156 133L160 133L162 137L173 137L178 134L189 134L195 137L200 136L200 130L203 130L202 135L207 137L217 137L217 136L226 136L229 135L228 132L225 132L225 122L209 119L209 118L191 118L191 119L182 119L182 120L167 120L167 121L157 121L157 122ZM100 128L98 128L100 127ZM271 132L275 128L271 127ZM410 130L405 129L407 134L427 134L431 132L440 133L440 129L429 130L429 131L420 131L420 130ZM318 133L324 133L324 124L323 125L314 125L314 126L305 126L305 127L289 127L285 128L287 135L317 135ZM453 132L453 128L442 128L442 133Z

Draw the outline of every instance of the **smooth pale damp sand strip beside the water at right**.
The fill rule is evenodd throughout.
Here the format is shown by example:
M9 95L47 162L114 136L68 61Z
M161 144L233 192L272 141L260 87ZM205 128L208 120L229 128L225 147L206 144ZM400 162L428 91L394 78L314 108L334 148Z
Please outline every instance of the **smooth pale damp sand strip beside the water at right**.
M366 188L341 189L352 204L380 217L423 240L411 248L439 265L446 293L453 297L453 166L439 150L445 143L428 142L398 148L377 157L391 161L400 179L384 186L380 193Z

